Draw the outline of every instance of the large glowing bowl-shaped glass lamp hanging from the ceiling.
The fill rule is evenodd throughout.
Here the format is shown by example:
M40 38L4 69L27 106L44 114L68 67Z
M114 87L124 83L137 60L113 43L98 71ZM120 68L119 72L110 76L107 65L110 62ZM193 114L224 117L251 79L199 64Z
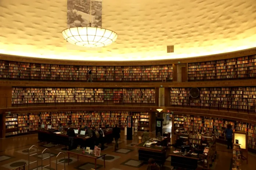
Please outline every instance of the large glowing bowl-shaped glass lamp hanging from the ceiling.
M71 44L80 47L97 48L112 44L117 33L98 27L72 27L62 31L62 35Z

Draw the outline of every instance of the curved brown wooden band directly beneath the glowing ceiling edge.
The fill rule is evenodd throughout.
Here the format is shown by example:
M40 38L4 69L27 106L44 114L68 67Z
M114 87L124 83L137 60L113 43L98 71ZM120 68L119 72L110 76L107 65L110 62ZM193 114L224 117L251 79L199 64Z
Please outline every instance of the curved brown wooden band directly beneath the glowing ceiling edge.
M30 62L30 63L46 63L46 64L66 64L66 65L84 65L84 66L150 66L150 65L164 65L204 62L211 60L229 59L235 57L242 57L247 55L255 55L256 48L245 49L241 51L222 53L216 55L200 56L186 59L168 59L168 60L145 60L145 61L72 61L72 60L56 60L56 59L41 59L32 57L20 57L12 55L0 54L1 60L8 59L9 61Z

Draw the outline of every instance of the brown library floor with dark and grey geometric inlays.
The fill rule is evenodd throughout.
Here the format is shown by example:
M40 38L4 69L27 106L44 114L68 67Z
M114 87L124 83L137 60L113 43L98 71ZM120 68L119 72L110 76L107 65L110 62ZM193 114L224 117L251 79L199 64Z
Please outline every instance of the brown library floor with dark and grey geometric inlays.
M121 132L121 140L119 144L119 149L114 152L114 144L108 144L106 149L102 153L107 154L106 156L106 170L130 170L131 167L134 170L146 170L147 165L138 161L138 149L134 148L133 145L138 142L137 137L132 141L127 141L124 136L124 132ZM38 156L39 163L38 166L41 167L41 155L45 148L49 148L51 151L51 170L56 170L56 155L62 151L67 152L64 146L61 145L44 145L44 143L38 143L37 134L19 136L7 139L0 139L0 170L10 170L17 166L21 166L23 162L28 165L28 148L32 145L38 146ZM34 150L33 153L36 151ZM33 154L32 153L32 154ZM49 154L43 155L43 158L48 157ZM243 162L242 170L255 170L256 155L249 154L249 164ZM66 153L67 160L67 153ZM231 158L232 150L226 149L226 146L218 144L217 145L217 160L213 163L212 170L231 170ZM34 157L31 158L31 162L35 161ZM58 157L57 161L61 162L64 158ZM33 165L33 164L32 164ZM49 165L49 160L43 161L43 166ZM31 166L31 169L35 169L35 166ZM66 163L66 170L90 170L94 167L93 159L86 159L84 157L79 157L77 161L76 157L70 158L70 165ZM58 169L63 169L63 163L58 164ZM26 166L26 170L28 166ZM42 168L39 168L40 170ZM102 159L97 160L97 169L104 169L104 163ZM162 170L171 170L170 158L167 158L165 165ZM49 168L44 168L44 170L49 170ZM201 170L198 168L198 170Z

